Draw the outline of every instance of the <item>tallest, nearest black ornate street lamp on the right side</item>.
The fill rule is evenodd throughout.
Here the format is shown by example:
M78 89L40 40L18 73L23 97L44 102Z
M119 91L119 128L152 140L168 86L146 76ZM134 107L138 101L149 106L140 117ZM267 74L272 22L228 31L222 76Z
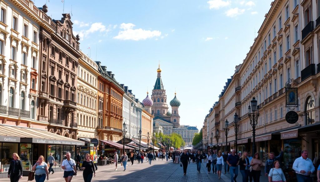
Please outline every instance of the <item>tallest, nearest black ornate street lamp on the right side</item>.
M248 116L250 119L250 125L252 126L252 154L256 153L256 126L258 123L259 118L259 109L260 107L257 106L257 100L255 97L251 100L251 107L248 107ZM252 111L252 112L251 112Z

